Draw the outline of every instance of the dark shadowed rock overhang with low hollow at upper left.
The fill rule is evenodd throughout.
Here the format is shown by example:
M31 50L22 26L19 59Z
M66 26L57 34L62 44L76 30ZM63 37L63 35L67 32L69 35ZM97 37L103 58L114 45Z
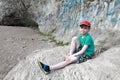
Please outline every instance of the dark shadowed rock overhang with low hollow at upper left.
M26 2L28 3L28 2ZM8 26L37 26L29 13L29 5L24 0L0 0L0 24Z

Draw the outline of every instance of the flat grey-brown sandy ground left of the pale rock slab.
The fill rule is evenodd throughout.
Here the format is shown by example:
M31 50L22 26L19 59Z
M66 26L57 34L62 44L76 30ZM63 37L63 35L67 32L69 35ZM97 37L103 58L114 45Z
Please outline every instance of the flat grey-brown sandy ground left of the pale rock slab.
M33 51L55 47L47 36L28 27L0 26L0 80Z

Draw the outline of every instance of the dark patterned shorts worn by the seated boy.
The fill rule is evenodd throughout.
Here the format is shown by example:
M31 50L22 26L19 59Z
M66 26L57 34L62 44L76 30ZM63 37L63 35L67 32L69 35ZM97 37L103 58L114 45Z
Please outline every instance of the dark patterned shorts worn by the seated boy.
M75 49L74 53L79 52L81 49L82 49L82 46L79 46L77 49ZM79 56L76 56L76 57L78 58L77 63L82 63L82 62L87 61L88 59L92 59L90 56L86 55L85 53Z

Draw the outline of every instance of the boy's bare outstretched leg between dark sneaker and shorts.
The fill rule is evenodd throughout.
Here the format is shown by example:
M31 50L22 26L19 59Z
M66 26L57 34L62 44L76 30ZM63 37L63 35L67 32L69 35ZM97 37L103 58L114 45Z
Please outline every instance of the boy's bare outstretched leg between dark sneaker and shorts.
M76 61L77 61L77 57L74 57L73 55L71 55L65 61L60 62L60 63L58 63L56 65L50 66L50 70L57 70L57 69L63 68L65 66L67 66L68 64L74 63Z

